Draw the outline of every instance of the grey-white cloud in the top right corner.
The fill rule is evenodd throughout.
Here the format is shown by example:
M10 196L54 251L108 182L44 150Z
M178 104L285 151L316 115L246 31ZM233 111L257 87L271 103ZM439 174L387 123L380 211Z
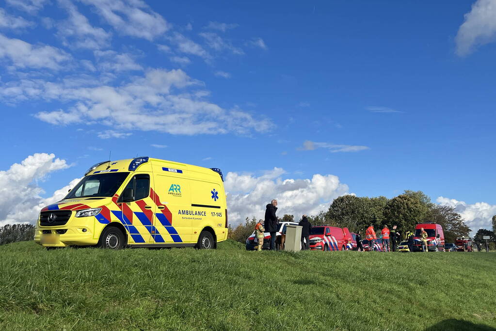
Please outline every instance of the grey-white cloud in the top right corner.
M464 18L455 37L457 55L469 55L496 40L496 0L477 0Z

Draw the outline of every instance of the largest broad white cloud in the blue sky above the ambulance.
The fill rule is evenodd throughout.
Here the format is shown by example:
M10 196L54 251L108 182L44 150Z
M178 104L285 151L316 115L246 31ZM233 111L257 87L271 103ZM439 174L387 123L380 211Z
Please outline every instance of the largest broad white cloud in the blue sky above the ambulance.
M78 85L79 84L79 85ZM41 111L35 117L56 125L95 123L113 130L158 131L171 134L249 134L266 132L273 124L240 109L223 109L204 98L208 91L188 93L203 83L183 70L150 69L121 86L82 80L45 82L24 79L1 84L0 97L8 102L42 99L73 102L67 110Z

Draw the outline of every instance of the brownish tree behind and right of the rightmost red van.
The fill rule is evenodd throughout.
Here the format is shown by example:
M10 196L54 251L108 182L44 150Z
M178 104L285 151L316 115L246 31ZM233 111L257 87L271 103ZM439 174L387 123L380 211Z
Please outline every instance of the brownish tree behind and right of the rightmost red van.
M446 242L455 242L456 237L468 237L470 228L453 207L434 205L425 215L424 221L441 224Z

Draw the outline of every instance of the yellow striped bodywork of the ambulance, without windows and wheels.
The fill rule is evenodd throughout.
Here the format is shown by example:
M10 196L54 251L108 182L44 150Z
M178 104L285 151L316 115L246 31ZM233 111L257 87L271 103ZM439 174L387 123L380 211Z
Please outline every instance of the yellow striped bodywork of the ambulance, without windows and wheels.
M133 246L193 246L203 230L213 232L215 242L227 239L226 194L219 173L152 158L130 171L132 161L105 163L86 174L127 172L112 197L63 199L43 208L34 240L47 247L95 245L109 225L123 229L127 244ZM121 202L124 189L137 178L144 182L149 178L146 196ZM75 217L78 211L91 208L101 211L96 216ZM51 224L50 220L55 221Z

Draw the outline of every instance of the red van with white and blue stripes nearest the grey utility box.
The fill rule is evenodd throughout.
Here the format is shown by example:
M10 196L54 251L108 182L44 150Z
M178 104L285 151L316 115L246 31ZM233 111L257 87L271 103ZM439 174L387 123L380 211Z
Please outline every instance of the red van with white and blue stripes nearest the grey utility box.
M310 230L310 249L319 251L346 251L352 237L348 228L320 225Z

